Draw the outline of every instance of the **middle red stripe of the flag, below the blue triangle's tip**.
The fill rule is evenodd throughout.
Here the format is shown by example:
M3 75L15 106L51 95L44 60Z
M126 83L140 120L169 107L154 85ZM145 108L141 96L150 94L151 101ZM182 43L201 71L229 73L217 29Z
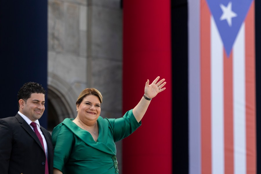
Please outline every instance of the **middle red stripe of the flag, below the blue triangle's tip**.
M225 174L234 173L233 148L233 51L227 57L224 50L224 167Z

